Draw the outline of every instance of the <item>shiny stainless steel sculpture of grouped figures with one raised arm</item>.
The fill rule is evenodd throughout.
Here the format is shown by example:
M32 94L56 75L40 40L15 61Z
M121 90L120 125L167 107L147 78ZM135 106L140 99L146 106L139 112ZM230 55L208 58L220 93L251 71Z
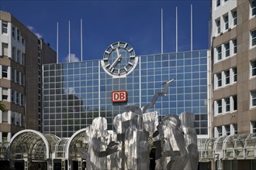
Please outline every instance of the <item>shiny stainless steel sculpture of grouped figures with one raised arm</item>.
M173 80L164 83L164 91L156 93L146 106L126 106L113 120L116 132L107 130L104 117L92 121L85 132L87 148L81 150L87 169L149 169L149 134L153 134L156 148L155 169L197 169L194 115L167 115L158 123L156 111L146 113L158 97L167 95Z

